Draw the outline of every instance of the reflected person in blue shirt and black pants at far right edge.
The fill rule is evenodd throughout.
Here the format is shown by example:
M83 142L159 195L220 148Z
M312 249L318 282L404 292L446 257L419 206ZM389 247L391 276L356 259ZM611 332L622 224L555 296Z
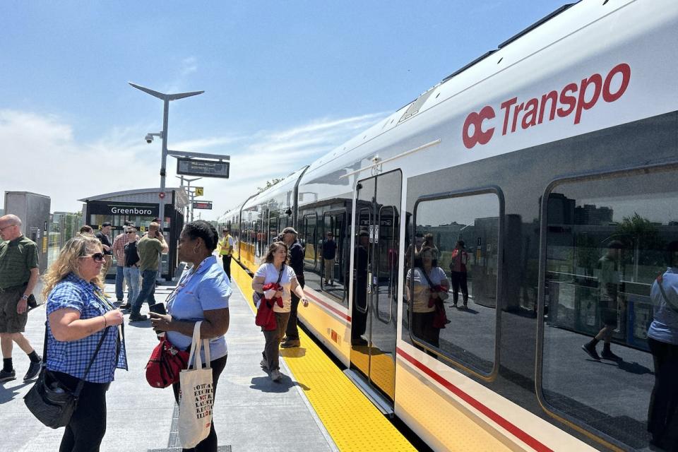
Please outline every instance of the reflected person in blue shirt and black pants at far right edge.
M654 307L653 321L648 329L648 345L655 366L655 386L648 408L648 432L651 444L678 450L674 444L662 444L678 405L678 242L668 246L670 267L660 275L650 289Z

